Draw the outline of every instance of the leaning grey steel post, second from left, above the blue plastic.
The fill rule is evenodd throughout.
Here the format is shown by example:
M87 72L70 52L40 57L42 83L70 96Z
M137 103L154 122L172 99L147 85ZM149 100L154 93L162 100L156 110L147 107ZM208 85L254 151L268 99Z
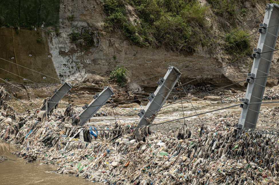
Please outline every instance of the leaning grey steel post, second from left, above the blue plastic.
M112 89L105 87L100 95L93 96L94 100L89 105L85 104L82 107L84 110L78 116L80 118L80 126L83 126L113 95Z

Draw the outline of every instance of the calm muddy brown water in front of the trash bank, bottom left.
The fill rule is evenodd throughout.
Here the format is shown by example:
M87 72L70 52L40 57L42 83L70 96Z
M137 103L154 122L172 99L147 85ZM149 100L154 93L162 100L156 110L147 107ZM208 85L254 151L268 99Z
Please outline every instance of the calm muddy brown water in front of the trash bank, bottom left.
M12 152L20 150L12 144L0 140L0 155L8 160L0 163L0 184L2 185L100 185L101 183L88 182L82 177L67 174L56 174L58 166L42 164L41 161L27 163Z

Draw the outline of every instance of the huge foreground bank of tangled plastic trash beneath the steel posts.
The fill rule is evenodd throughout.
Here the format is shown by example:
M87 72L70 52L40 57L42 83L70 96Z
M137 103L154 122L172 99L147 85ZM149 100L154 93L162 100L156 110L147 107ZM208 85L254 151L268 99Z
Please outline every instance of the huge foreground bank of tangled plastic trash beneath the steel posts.
M261 114L275 118L278 107ZM75 112L68 106L64 115L70 117ZM136 137L132 125L128 124L107 127L117 131L92 131L99 128L77 126L68 117L47 116L39 110L15 120L7 114L0 116L0 139L21 147L15 154L28 162L56 164L57 173L83 176L92 182L278 183L278 134L241 130L240 137L235 138L235 116L206 118L208 122L202 127L185 125L170 132L150 132L147 126L140 130L144 137Z

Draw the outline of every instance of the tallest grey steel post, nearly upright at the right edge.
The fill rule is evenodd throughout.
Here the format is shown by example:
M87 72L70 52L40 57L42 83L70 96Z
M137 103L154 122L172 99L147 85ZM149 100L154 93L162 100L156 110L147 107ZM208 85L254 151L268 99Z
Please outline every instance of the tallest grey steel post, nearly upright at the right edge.
M261 104L251 104L262 102L264 89L276 40L279 31L279 5L267 4L263 23L260 23L260 38L257 48L254 48L254 62L251 73L248 73L248 82L245 98L242 98L240 107L242 108L239 122L235 125L235 133L239 134L241 129L256 128ZM270 51L270 52L269 52ZM260 77L260 78L259 78ZM266 78L265 78L266 77Z

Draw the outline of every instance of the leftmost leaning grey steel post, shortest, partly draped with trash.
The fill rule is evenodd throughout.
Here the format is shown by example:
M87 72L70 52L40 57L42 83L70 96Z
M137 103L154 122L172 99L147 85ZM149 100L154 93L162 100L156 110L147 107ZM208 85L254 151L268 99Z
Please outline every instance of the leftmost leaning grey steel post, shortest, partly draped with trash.
M63 85L57 90L55 89L54 95L45 102L45 104L41 107L41 110L47 111L49 113L57 104L58 102L67 94L69 93L70 89L72 89L71 85L67 82L63 83Z

